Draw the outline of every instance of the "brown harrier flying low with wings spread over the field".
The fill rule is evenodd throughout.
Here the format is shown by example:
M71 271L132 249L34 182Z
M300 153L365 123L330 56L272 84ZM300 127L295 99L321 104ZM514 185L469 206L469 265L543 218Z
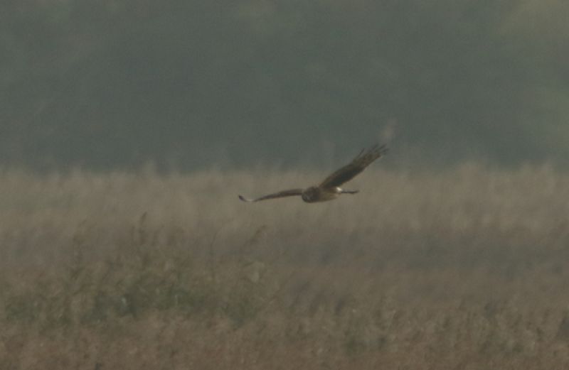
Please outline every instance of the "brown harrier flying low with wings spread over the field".
M293 197L295 195L300 195L302 200L307 203L314 202L324 202L326 200L333 200L339 197L340 194L356 194L359 190L344 190L340 185L347 183L349 180L353 179L365 170L368 165L370 165L374 160L381 158L385 153L387 153L387 147L385 145L378 146L375 145L369 148L367 151L361 151L356 158L353 158L351 163L344 165L344 167L336 170L336 172L329 175L320 185L307 187L306 189L291 189L283 190L281 192L275 192L273 194L265 195L257 199L248 199L239 195L239 199L243 202L258 202L260 200L282 198L282 197Z

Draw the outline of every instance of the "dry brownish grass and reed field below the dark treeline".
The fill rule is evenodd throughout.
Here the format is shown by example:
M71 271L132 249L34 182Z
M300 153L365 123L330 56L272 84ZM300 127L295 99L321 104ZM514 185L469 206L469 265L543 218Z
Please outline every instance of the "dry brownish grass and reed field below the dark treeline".
M0 369L561 369L569 176L0 173Z

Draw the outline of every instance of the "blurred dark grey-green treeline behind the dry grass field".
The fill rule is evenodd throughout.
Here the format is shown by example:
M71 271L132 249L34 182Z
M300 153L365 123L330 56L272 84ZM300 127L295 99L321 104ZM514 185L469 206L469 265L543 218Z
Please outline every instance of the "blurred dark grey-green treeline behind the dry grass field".
M564 0L0 6L2 165L566 162ZM354 154L354 153L353 153Z

